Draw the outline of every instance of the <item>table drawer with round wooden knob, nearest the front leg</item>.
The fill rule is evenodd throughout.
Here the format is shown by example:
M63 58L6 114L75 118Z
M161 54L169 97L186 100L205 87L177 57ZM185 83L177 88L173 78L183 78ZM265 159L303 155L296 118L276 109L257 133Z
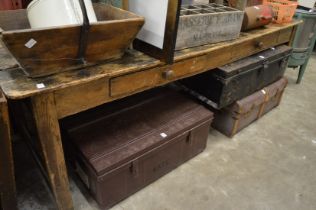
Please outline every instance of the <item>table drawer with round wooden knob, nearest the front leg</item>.
M223 47L202 56L178 61L171 66L115 77L110 80L110 96L115 98L129 95L216 68L230 61L231 50Z

